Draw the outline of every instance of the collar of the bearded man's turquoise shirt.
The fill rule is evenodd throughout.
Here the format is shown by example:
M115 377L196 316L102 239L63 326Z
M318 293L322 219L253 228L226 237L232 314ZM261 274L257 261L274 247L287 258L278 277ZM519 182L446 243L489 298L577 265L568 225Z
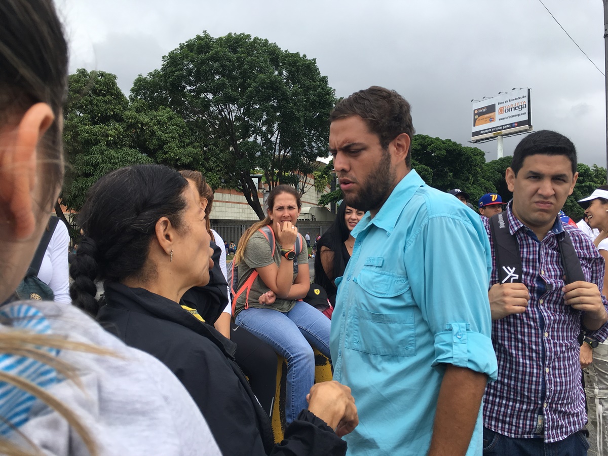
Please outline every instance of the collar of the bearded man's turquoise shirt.
M354 227L351 233L354 238L367 229L370 224L374 224L378 228L385 230L387 233L391 233L395 229L397 219L401 215L401 210L404 206L412 199L414 193L418 188L424 185L424 181L416 173L416 170L412 169L406 176L399 181L399 183L393 188L389 198L382 204L382 207L374 218L371 218L370 212L366 212L363 218L359 221L356 227Z

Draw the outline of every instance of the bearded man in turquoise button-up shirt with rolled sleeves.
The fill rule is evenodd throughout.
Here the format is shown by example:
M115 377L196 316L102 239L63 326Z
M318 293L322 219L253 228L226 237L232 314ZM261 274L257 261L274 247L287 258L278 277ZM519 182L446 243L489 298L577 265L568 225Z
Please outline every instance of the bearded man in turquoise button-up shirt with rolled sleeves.
M349 454L481 454L480 405L497 374L483 224L411 168L401 95L356 92L330 122L344 200L368 211L336 279L331 325L334 379L361 418L345 437Z

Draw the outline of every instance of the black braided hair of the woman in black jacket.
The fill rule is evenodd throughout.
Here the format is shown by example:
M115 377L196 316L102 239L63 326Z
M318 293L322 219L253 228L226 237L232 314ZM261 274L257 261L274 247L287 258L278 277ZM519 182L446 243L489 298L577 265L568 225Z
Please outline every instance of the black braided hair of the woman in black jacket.
M90 241L83 252L88 263L81 266L78 261L82 243L75 258L75 305L96 315L93 280L149 279L156 272L144 268L156 222L165 216L173 226L181 225L187 185L177 171L163 165L133 165L106 174L89 189L78 214L86 233L83 239Z

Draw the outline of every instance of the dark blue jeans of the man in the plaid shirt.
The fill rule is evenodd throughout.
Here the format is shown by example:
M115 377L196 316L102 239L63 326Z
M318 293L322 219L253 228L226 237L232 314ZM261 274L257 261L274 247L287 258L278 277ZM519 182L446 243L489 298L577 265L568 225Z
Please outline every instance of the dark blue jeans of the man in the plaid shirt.
M586 456L589 442L582 430L564 440L545 443L542 438L511 438L483 428L483 454L491 456Z

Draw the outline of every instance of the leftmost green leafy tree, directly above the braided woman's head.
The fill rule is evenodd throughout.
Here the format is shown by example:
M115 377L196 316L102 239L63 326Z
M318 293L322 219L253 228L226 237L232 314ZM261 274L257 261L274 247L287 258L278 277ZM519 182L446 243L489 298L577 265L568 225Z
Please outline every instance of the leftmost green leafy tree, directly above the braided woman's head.
M104 71L78 69L69 76L68 88L64 144L69 166L61 200L69 209L79 210L89 187L104 174L137 163L199 170L212 187L221 184L184 119L170 108L130 103L116 75Z

